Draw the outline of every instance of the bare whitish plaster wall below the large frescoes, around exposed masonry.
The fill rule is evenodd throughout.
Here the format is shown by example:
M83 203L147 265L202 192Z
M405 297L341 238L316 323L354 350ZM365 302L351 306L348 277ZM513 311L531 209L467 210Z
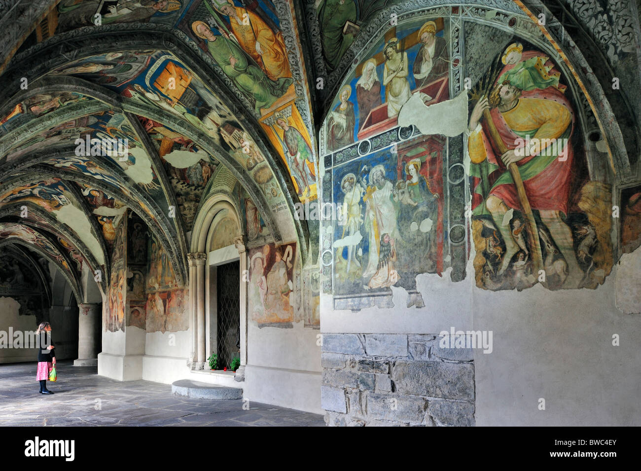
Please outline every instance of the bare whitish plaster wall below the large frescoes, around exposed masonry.
M475 351L478 426L641 425L641 315L626 313L641 301L641 251L624 257L596 290L536 285L522 292L477 288L473 252L463 281L453 283L449 272L417 277L424 308L406 308L398 288L393 309L333 311L323 296L321 331L491 330L492 353Z

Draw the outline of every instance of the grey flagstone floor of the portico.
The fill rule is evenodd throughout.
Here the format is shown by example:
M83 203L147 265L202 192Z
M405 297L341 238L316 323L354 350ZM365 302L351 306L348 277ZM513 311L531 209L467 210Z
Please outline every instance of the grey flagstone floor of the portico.
M207 401L174 396L171 384L122 383L96 367L58 363L60 379L42 395L36 363L0 365L0 426L324 426L322 415L258 402Z

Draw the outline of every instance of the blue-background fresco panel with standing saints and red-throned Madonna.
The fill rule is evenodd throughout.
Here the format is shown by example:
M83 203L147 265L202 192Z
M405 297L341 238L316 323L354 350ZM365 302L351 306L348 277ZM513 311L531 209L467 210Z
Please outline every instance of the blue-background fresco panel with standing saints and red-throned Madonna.
M420 136L333 169L336 293L412 289L442 272L444 144Z

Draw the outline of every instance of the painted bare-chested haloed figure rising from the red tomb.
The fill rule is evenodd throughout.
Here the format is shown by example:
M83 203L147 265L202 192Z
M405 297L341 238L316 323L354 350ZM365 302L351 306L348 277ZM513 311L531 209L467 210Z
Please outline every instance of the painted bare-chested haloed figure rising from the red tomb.
M407 53L399 50L397 38L392 38L385 45L385 68L383 69L383 85L385 86L385 103L387 117L398 115L406 101L410 99L410 82L408 76Z

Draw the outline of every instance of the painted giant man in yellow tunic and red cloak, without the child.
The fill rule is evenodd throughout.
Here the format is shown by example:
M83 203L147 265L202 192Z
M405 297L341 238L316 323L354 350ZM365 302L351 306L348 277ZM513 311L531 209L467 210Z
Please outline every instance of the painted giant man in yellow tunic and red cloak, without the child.
M546 95L521 95L520 88L503 81L472 110L468 128L470 174L476 178L472 209L475 214L489 213L501 233L506 247L499 269L499 274L503 274L520 250L509 221L504 221L510 208L520 210L521 207L512 176L506 171L506 166L516 163L531 208L539 211L542 223L549 229L567 263L568 276L563 287L576 288L583 278L583 271L574 253L572 231L561 218L561 213L568 211L572 178L572 108L567 100L558 97L545 99ZM549 97L554 98L553 95ZM489 111L492 122L481 120L484 110ZM490 144L492 126L508 149L501 156ZM537 140L531 141L528 152L515 152L524 138ZM560 139L563 147L547 144L556 139Z

